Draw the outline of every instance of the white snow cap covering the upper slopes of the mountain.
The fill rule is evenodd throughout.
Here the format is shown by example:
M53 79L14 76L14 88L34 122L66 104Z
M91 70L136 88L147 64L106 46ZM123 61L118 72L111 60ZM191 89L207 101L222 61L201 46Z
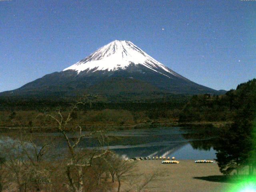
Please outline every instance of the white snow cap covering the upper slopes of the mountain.
M184 78L160 62L154 60L154 58L146 54L132 42L120 40L110 42L96 50L96 52L92 53L90 56L80 60L68 68L65 68L63 71L76 70L79 74L84 70L87 70L87 72L95 72L98 70L125 70L130 64L141 64L167 77L169 77L168 74L170 74ZM161 72L162 70L167 72L167 75L163 74Z

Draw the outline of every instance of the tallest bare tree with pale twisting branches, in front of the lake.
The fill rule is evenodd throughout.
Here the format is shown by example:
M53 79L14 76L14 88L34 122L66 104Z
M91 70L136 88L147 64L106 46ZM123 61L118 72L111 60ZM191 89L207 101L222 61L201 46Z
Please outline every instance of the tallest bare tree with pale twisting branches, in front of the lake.
M90 100L89 104L91 105ZM54 121L58 124L58 131L62 133L62 136L64 137L66 144L68 146L68 152L70 155L69 161L66 164L66 175L68 177L70 190L73 192L82 192L84 190L84 178L83 178L83 170L84 168L91 167L92 162L96 158L101 158L105 156L109 150L100 148L100 150L93 151L89 156L84 156L80 150L76 150L78 144L80 143L81 139L84 137L90 137L95 135L102 136L103 131L94 131L86 134L82 134L82 128L80 126L76 126L76 130L78 130L78 136L75 141L72 141L66 132L68 128L68 123L72 120L72 113L74 110L78 108L78 105L85 105L88 102L77 102L68 113L68 116L64 118L60 112L58 111L58 116L55 117L53 115L46 115L50 118L52 118ZM86 146L84 146L86 147ZM77 181L75 181L75 178L77 178Z

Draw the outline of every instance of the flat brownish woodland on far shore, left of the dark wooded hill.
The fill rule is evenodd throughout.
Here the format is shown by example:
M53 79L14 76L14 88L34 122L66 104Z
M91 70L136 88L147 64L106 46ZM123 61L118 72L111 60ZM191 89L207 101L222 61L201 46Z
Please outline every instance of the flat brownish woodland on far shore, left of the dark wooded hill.
M161 99L142 101L110 102L99 96L91 96L92 105L80 105L72 113L73 124L81 126L133 126L151 122L173 122L178 120L182 107L190 96L163 96ZM79 101L79 99L77 99ZM40 98L1 98L0 126L39 127L56 126L38 114L60 110L66 115L75 100Z

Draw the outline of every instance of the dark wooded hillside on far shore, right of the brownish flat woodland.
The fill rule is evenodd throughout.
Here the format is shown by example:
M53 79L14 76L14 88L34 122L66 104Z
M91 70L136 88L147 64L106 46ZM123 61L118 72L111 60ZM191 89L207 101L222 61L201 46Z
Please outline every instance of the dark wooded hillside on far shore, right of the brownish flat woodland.
M240 93L243 92L243 84L236 90L230 90L226 94L218 95L194 95L184 106L179 116L180 122L213 122L234 121L234 115L243 102Z

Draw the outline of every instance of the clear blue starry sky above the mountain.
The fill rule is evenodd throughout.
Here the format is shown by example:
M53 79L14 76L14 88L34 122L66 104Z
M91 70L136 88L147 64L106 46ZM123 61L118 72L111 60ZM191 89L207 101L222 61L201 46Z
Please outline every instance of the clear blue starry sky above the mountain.
M129 40L214 89L256 77L256 1L0 0L0 92Z

